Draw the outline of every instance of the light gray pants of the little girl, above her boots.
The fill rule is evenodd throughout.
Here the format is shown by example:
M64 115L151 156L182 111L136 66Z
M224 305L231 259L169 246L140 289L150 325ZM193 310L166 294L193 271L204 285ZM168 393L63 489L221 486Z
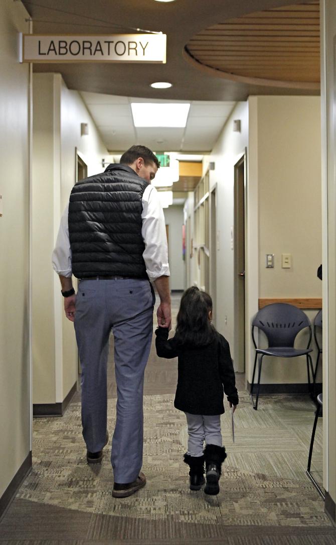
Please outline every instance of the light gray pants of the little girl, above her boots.
M188 423L188 452L190 456L203 455L203 443L222 446L221 415L204 416L185 413Z

